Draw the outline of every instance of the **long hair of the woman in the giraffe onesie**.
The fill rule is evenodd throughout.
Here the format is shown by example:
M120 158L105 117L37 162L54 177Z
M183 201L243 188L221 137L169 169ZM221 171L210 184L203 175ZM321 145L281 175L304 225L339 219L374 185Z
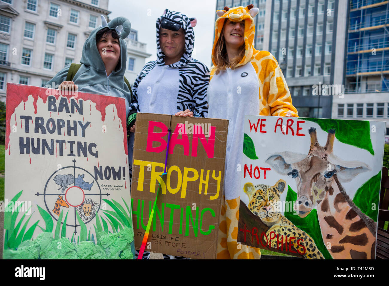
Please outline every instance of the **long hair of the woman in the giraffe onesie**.
M223 28L220 32L220 37L216 42L215 51L214 51L214 61L215 61L215 75L219 74L221 70L225 70L228 67L231 67L231 70L235 69L235 66L242 61L245 54L245 43L239 48L238 56L235 58L229 59L227 55L226 43L224 40L224 22Z

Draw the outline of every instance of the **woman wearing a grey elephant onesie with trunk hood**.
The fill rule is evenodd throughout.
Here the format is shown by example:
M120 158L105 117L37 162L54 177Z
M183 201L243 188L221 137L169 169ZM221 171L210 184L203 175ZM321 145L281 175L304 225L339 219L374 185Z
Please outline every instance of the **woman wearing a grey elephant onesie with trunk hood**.
M107 24L101 17L102 26L93 30L84 43L78 70L74 64L68 64L46 85L51 87L54 83L54 86L60 85L60 89L74 88L80 92L124 98L127 118L131 89L124 80L127 45L123 39L130 34L131 23L125 17L116 17Z

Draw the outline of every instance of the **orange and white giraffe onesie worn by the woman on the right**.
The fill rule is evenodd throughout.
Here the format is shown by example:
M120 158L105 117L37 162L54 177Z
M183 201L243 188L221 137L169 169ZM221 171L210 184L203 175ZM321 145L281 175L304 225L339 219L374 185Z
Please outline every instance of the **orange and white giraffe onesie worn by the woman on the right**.
M259 259L258 248L237 244L239 201L241 192L241 162L243 156L244 115L285 116L290 112L297 117L297 110L284 75L277 60L270 52L254 49L254 19L258 8L235 7L217 10L215 40L212 49L211 79L207 90L208 117L228 119L226 172L224 199L219 225L217 259ZM225 19L245 21L245 55L232 70L227 68L215 73L215 46L221 35Z

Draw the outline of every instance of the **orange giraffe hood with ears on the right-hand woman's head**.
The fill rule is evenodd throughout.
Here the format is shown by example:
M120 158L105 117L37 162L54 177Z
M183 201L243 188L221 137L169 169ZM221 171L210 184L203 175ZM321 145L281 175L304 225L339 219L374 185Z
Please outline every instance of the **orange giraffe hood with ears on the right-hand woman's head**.
M234 8L224 7L225 10L217 10L216 14L219 18L215 22L215 40L214 46L212 48L212 63L216 66L214 60L215 47L217 40L220 38L221 31L223 29L224 21L229 19L232 22L245 21L244 28L244 42L245 42L245 55L237 65L242 66L251 61L254 57L253 54L256 52L254 48L254 36L255 36L255 26L253 17L258 14L259 9L253 8L254 5L250 4L247 7L239 6Z

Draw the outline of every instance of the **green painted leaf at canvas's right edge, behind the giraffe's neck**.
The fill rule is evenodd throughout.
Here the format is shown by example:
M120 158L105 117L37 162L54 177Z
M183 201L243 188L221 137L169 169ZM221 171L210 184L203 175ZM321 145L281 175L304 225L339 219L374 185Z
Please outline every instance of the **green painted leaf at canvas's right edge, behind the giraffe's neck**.
M378 216L378 200L380 199L380 194L378 190L380 189L381 181L381 171L377 175L371 177L366 183L364 183L355 193L354 199L352 200L354 204L372 220L377 221ZM375 204L375 208L372 209L371 206Z

